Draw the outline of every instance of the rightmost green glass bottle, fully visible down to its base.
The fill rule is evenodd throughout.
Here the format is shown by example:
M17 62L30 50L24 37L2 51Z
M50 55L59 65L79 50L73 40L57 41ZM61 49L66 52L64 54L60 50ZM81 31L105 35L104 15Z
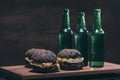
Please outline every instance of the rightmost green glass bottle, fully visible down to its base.
M101 9L94 10L93 30L90 33L90 67L104 66L104 31L101 25Z

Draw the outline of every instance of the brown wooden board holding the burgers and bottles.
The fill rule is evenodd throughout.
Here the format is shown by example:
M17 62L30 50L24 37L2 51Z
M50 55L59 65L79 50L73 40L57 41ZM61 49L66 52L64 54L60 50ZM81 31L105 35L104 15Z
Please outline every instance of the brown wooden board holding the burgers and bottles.
M4 66L0 67L0 75L2 77L10 78L12 80L27 80L37 78L54 78L65 76L79 76L79 75L94 75L104 73L117 73L120 72L120 65L105 62L105 66L102 68L90 68L84 67L82 70L60 70L55 73L33 73L32 69L25 68L24 65L17 66Z

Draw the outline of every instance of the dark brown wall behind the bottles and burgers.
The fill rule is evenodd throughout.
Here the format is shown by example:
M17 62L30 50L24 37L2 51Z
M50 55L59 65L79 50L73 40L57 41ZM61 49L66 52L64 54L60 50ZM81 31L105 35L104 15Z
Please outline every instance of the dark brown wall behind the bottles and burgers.
M24 64L25 51L33 47L56 53L63 8L70 9L73 31L79 11L91 31L93 9L101 8L105 61L120 64L120 0L0 0L0 66Z

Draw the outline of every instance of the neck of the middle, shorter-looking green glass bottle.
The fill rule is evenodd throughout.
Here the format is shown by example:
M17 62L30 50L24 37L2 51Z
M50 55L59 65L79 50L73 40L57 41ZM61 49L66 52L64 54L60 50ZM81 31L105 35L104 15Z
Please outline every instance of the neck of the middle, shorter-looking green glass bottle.
M86 28L85 15L78 15L77 29Z

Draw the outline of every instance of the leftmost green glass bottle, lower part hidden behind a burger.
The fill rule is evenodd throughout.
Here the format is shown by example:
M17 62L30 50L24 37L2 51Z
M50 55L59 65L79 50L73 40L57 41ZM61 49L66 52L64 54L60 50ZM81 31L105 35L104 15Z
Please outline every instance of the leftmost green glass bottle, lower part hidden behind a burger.
M70 28L69 9L64 9L62 13L62 26L58 36L58 51L65 48L72 48L73 31Z

